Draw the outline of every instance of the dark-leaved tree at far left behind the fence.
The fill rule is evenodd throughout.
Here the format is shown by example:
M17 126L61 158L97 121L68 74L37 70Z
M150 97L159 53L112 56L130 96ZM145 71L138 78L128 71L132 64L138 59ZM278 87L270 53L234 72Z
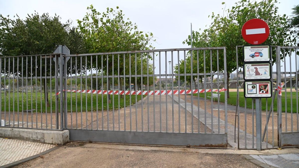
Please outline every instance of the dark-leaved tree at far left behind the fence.
M84 53L85 47L80 32L75 31L76 29L71 27L71 21L68 20L62 23L60 20L61 18L56 14L55 16L49 16L48 13L42 15L39 15L39 13L28 14L28 17L24 20L18 15L14 16L14 19L0 15L0 56L49 54L54 51L57 45L68 46L71 54ZM55 74L54 61L52 60L52 65L49 64L51 58L47 59L47 67L45 66L45 58L42 58L42 56L22 57L22 59L21 57L7 58L5 61L6 65L8 65L9 59L10 65L5 72L4 59L2 59L1 71L6 75L13 75L14 77L31 76L31 74L37 77L40 77L40 75L50 76L50 66L52 66L52 75ZM12 66L13 61L14 67ZM19 64L17 64L18 61ZM73 65L75 66L75 63ZM29 67L33 67L32 71ZM37 71L35 71L35 67ZM13 70L15 74L12 74ZM70 74L70 71L71 67L68 68L67 74ZM46 87L49 79L47 81L43 79L42 81L45 103L49 106Z

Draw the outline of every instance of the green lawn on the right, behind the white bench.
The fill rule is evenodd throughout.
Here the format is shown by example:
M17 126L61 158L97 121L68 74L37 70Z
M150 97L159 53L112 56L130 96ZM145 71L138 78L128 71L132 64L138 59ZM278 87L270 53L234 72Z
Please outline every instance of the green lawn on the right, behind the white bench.
M220 102L224 102L225 101L225 93L224 92L220 92ZM197 96L197 94L193 94L194 96ZM210 96L211 93L207 93L207 96ZM298 93L299 95L299 93ZM205 94L204 93L200 93L199 94L200 97L205 97ZM237 100L237 92L229 92L229 96L230 98L227 100L227 103L228 104L231 104L231 105L234 105L236 106L236 100ZM276 95L277 96L277 95ZM285 112L291 112L291 108L293 109L293 113L296 113L297 112L297 105L296 105L296 92L292 92L292 106L291 106L291 93L290 92L287 92L287 97L286 97L286 105L285 105L285 93L282 92L282 111ZM210 99L210 97L207 97L207 99ZM268 110L271 106L271 101L272 101L272 98L268 98ZM299 98L298 98L299 100ZM217 100L216 100L217 101ZM252 107L252 98L247 98L247 102L246 102L246 106L247 108L250 108ZM244 98L244 94L242 91L239 92L239 105L241 107L245 107L245 98ZM255 105L254 105L254 108L255 108ZM262 110L266 110L266 98L262 98ZM274 111L277 111L277 98L275 97L274 99Z

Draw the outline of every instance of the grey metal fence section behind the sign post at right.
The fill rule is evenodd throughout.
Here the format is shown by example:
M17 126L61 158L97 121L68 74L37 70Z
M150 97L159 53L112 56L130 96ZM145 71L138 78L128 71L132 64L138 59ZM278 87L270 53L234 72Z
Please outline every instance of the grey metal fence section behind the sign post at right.
M236 47L237 60L240 60L238 53L242 46ZM272 97L262 98L262 127L255 123L254 99L244 99L243 79L237 79L237 140L239 149L257 149L257 141L261 142L261 149L271 149L283 146L298 146L298 49L299 47L271 46L270 55L275 61L272 65ZM243 74L238 68L237 76ZM278 86L283 86L278 89ZM281 94L279 95L279 90ZM248 101L249 100L249 101ZM243 105L243 107L240 106ZM235 127L235 128L236 128ZM261 135L257 136L257 129Z

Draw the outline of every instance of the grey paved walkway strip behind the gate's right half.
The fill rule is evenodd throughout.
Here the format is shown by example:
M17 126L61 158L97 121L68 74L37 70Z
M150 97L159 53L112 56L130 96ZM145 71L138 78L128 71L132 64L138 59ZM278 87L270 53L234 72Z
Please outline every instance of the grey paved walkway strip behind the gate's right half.
M174 96L173 97L174 100L176 102L179 103L179 97ZM191 99L191 96L187 96L187 101L189 99ZM205 126L207 126L209 129L213 130L213 132L215 133L225 133L225 121L221 120L220 117L216 117L213 115L213 126L212 126L212 115L211 115L211 110L207 108L207 112L205 112L205 109L203 108L198 108L196 105L197 103L197 97L193 97L193 115L196 118L199 118L199 120L202 123L205 123ZM199 101L205 101L203 98L199 98ZM207 100L207 107L211 107L211 105L209 104L210 100ZM180 105L181 107L185 108L185 100L180 99ZM191 112L192 107L190 103L186 103L187 105L187 111ZM219 109L220 111L224 112L225 106L224 103L219 103ZM228 109L232 110L232 109L236 109L236 106L232 106L232 105L228 105ZM198 110L199 110L199 114L198 114ZM245 108L241 108L240 110L245 111ZM218 112L218 104L217 103L213 103L213 111L214 112ZM198 117L199 115L199 117ZM238 147L238 141L237 141L237 137L236 137L236 142L235 142L235 129L234 126L231 124L227 124L227 128L228 128L228 143L232 146L232 147ZM237 131L236 131L237 132ZM240 144L239 147L240 148L245 148L245 135L246 135L246 148L250 149L250 148L254 148L256 149L256 137L253 137L251 134L248 134L243 131L243 130L239 130L239 140L240 140ZM237 136L237 135L236 135ZM253 141L253 142L252 142ZM252 146L253 145L253 146ZM271 144L267 144L266 142L262 142L262 148L265 149L266 146L268 145L268 148L271 148L272 145Z

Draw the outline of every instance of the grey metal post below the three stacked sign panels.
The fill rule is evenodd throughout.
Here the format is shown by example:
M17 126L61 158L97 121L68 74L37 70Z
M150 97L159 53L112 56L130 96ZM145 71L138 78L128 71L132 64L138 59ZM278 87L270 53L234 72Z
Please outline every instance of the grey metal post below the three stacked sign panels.
M255 99L255 122L256 122L256 133L257 133L257 150L262 150L262 140L261 140L261 132L262 132L262 120L261 120L261 106L260 106L261 98Z

